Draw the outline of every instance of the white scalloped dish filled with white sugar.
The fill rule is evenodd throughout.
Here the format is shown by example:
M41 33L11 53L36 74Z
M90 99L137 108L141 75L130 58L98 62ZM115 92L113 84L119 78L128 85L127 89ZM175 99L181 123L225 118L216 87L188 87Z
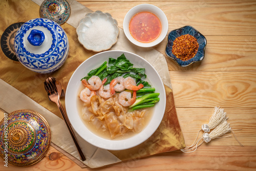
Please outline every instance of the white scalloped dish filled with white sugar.
M87 13L76 29L78 40L87 50L101 52L110 49L117 41L118 23L109 13Z

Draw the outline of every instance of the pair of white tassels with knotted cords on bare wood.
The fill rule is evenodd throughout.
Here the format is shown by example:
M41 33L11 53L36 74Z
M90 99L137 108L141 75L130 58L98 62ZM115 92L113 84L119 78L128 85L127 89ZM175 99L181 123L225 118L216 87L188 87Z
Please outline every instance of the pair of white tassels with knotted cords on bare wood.
M203 124L203 125L207 125L207 124ZM213 129L213 128L215 128L215 129L210 132L210 131L208 131L207 126L209 127L209 129ZM194 144L189 146L187 149L181 149L181 151L184 153L195 152L197 147L199 147L203 142L208 143L212 139L215 139L215 138L225 138L225 137L221 137L221 136L232 131L230 124L227 123L226 113L224 112L223 109L219 109L217 107L215 107L214 114L210 118L209 124L207 126L204 126L204 127L202 126L201 130L203 130L203 128L205 128L205 130L203 130L204 133L198 141L195 141ZM210 133L208 133L208 132L210 132ZM233 133L233 131L232 131L232 133ZM226 137L229 137L229 136L226 136ZM197 136L197 138L198 138L198 136ZM199 144L200 140L203 140L203 141ZM236 140L238 141L237 138L236 138ZM239 142L239 144L241 146L243 146L240 142ZM194 148L194 150L192 150L193 148Z

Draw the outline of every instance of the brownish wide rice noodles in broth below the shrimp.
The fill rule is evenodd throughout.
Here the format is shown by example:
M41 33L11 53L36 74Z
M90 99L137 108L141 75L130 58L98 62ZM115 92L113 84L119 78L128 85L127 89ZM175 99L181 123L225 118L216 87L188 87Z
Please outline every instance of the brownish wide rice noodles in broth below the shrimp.
M109 131L111 138L132 131L140 132L144 126L145 110L127 112L128 108L118 102L118 94L103 99L92 96L90 103L84 103L82 118L102 131Z

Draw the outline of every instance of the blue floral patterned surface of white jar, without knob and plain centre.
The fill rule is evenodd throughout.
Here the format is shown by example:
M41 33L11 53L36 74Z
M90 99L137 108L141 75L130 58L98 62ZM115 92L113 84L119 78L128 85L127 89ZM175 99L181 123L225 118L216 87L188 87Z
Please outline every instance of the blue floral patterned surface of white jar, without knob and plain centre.
M44 27L52 34L51 47L41 54L31 53L25 45L25 34L34 27ZM39 73L49 73L59 68L59 62L69 50L68 37L65 31L55 22L47 18L29 20L17 31L14 49L18 60L27 68ZM67 57L67 56L66 56ZM46 71L49 70L49 71Z

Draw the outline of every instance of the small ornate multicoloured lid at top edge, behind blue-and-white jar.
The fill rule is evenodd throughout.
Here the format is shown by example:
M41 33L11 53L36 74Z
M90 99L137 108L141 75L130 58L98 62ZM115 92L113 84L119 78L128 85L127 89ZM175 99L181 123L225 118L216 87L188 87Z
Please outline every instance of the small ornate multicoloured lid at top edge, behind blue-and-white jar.
M71 8L66 0L46 0L40 6L40 17L54 20L59 25L67 22Z

